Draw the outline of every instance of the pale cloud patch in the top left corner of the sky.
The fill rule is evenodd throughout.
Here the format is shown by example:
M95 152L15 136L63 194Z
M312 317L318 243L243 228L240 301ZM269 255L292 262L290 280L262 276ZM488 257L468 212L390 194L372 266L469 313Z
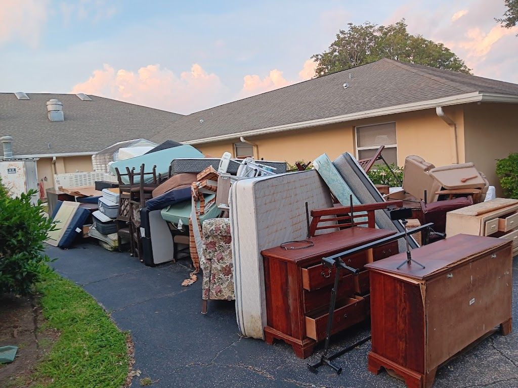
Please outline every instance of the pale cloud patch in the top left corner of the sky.
M46 0L6 1L0 6L0 44L22 41L37 47L47 22Z

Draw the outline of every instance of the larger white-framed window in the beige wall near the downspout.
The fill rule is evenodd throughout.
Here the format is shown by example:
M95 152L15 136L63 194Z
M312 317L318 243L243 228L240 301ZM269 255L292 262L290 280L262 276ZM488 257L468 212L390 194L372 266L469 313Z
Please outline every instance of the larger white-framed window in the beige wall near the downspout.
M367 159L384 145L383 158L387 163L397 165L396 123L356 127L356 157ZM377 164L383 163L378 161Z

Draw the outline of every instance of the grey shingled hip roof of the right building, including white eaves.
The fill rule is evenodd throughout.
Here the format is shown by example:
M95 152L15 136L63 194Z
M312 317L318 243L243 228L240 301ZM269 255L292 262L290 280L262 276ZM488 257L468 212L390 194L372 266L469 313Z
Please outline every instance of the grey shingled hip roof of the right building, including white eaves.
M383 58L192 113L151 140L196 144L506 96L518 102L518 85Z

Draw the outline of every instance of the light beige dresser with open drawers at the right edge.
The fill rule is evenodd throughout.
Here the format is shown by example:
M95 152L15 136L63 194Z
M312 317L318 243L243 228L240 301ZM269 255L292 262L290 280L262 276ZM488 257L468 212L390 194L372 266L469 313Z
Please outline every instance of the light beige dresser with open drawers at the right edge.
M518 199L495 198L448 212L446 236L459 233L511 240L518 255Z

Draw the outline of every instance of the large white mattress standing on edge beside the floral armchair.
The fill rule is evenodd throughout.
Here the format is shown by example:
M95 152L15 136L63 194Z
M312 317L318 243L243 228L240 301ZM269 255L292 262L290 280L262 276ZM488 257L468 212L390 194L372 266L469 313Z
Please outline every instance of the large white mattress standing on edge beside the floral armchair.
M239 330L247 337L264 339L266 326L260 252L307 236L305 202L310 211L333 206L329 189L315 170L250 178L232 185L236 316Z

